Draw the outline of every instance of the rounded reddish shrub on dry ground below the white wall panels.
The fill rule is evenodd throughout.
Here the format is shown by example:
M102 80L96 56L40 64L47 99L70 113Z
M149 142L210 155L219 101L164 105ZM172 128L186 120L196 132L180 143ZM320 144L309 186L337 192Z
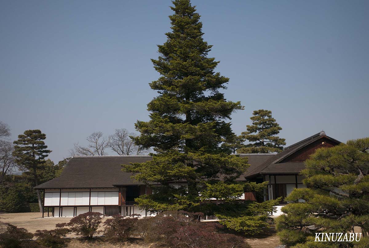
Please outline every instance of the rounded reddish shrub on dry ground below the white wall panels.
M93 235L100 233L97 229L103 220L101 215L98 212L87 212L72 218L68 223L70 231L86 239L91 239Z

